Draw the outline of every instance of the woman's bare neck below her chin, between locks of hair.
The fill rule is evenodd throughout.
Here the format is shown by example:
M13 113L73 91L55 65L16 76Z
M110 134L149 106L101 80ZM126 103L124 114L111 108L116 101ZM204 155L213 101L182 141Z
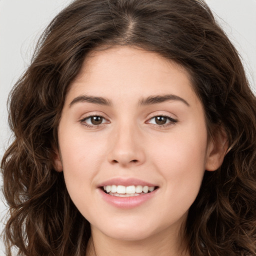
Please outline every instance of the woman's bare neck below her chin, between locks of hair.
M189 256L184 249L186 243L178 235L155 234L143 240L116 240L108 236L98 235L98 230L92 232L86 249L86 256ZM173 239L175 237L175 239Z

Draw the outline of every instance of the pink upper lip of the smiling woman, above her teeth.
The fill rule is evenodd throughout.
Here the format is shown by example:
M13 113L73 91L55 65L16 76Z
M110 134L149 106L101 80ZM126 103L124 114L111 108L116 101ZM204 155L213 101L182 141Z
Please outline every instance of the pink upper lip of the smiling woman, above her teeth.
M142 185L142 186L156 186L155 184L152 184L150 182L138 179L138 178L111 178L106 181L103 181L98 186L107 186L107 185L123 185L123 186L129 186L129 185Z

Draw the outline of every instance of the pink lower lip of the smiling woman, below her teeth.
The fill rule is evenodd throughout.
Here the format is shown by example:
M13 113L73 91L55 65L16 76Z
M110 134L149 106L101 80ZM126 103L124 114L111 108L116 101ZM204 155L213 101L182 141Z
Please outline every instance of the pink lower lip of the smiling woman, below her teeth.
M129 209L141 205L142 203L152 198L157 190L158 188L156 188L150 193L140 194L136 196L119 197L107 194L101 188L99 188L99 192L103 200L105 200L106 202L110 203L115 207L123 209Z

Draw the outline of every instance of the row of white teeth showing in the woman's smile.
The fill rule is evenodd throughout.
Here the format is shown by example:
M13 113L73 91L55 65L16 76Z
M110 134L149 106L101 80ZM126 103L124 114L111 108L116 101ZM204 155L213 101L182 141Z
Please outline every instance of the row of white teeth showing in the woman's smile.
M116 196L135 196L139 195L139 193L147 193L152 192L155 187L154 186L142 186L142 185L130 185L130 186L123 186L123 185L107 185L103 186L104 190L111 194Z

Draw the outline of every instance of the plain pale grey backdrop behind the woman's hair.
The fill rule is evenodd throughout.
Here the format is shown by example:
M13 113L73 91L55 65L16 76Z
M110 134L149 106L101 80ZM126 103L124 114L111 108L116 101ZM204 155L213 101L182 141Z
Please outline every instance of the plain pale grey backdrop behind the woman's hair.
M71 0L0 0L0 159L10 141L8 93L29 65L35 43L49 21ZM206 0L237 48L256 91L256 0ZM1 186L1 182L0 182ZM0 231L6 206L0 193ZM0 242L0 255L4 255Z

